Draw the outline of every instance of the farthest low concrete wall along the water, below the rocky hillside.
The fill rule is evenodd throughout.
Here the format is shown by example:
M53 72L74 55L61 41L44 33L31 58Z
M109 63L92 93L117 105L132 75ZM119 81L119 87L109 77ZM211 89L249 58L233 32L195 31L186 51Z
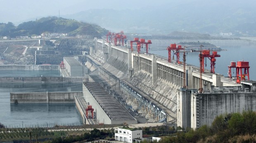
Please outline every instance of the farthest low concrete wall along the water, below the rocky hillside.
M59 65L0 65L0 70L59 70Z

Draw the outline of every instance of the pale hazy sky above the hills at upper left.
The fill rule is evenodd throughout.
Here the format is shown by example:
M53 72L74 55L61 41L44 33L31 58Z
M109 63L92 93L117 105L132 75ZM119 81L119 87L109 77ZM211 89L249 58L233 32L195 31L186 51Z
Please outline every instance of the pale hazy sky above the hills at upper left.
M0 0L0 23L18 25L45 16L64 16L88 9L140 9L169 0Z

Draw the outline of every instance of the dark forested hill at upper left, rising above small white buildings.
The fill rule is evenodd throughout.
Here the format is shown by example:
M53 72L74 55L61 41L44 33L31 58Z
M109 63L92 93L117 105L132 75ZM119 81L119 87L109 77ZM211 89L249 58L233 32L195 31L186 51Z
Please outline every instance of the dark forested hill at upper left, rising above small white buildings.
M107 30L98 25L79 22L73 19L46 17L14 26L13 23L0 23L0 36L33 36L41 33L67 33L69 36L90 35L101 37Z

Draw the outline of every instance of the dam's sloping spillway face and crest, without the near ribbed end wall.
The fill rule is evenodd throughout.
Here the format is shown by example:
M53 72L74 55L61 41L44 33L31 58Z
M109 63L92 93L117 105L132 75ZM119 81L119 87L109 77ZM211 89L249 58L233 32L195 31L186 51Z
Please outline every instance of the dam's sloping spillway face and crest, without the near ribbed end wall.
M182 64L154 54L132 52L127 46L114 46L104 39L95 38L85 65L91 71L89 75L100 76L98 82L105 82L109 92L119 93L113 96L132 115L142 115L147 122L177 121L178 106L188 104L178 99L183 78L188 89L199 89L199 67L187 64L183 77ZM94 81L89 77L90 80ZM211 92L214 87L242 86L208 70L202 74L202 81L204 92Z

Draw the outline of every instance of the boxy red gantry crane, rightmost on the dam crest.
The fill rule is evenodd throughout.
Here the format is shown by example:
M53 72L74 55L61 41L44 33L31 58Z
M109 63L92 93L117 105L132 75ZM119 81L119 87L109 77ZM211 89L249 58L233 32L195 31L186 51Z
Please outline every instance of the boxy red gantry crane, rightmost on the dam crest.
M237 68L237 83L241 83L241 81L245 81L246 76L247 76L247 80L250 81L249 62L238 61L236 68ZM242 69L244 69L244 71Z

